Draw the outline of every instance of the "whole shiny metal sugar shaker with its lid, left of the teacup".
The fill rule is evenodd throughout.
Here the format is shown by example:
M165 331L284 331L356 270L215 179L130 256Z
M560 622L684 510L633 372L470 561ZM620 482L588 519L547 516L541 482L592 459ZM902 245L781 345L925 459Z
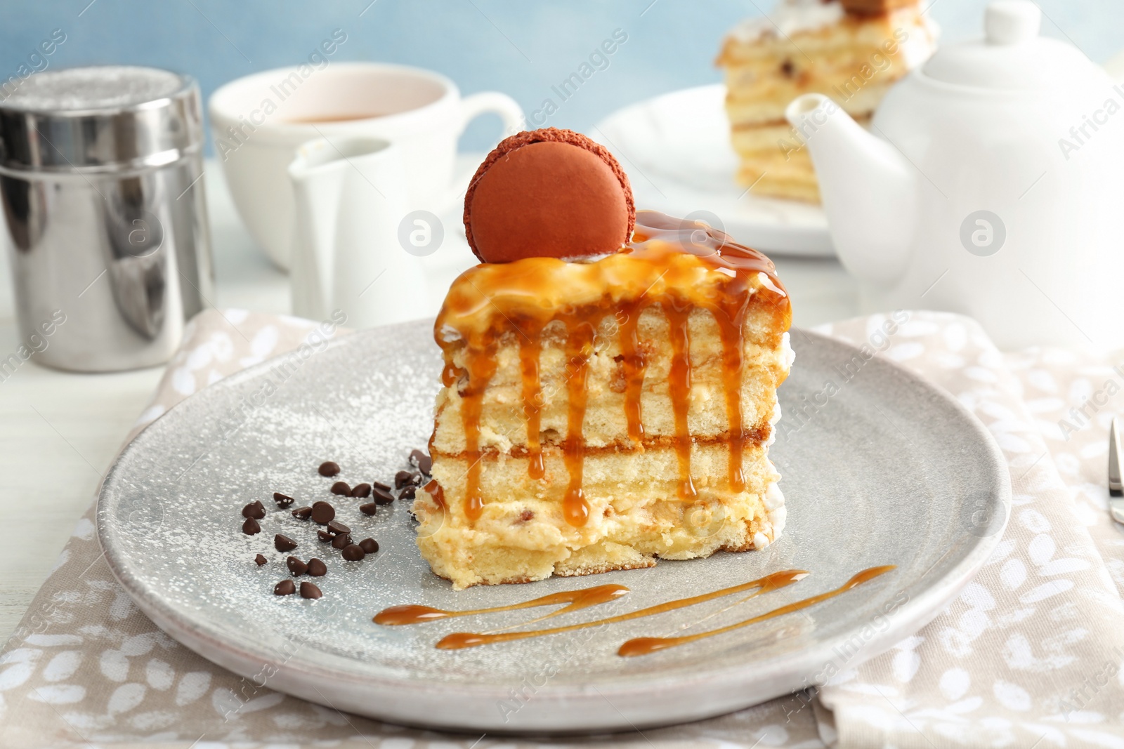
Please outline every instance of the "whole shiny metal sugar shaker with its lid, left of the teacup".
M119 65L37 73L0 100L2 234L37 362L161 364L203 309L201 111L193 79Z

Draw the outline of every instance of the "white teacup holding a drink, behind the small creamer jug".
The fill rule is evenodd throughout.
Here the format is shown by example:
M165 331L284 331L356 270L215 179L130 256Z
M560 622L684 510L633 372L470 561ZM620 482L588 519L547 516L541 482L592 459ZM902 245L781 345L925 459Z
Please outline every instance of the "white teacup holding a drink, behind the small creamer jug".
M506 131L523 127L510 97L461 99L450 79L384 63L281 67L232 81L210 97L215 154L250 234L289 267L294 203L287 173L293 152L314 138L363 136L395 144L406 170L410 210L441 211L451 194L456 140L465 125L496 112Z

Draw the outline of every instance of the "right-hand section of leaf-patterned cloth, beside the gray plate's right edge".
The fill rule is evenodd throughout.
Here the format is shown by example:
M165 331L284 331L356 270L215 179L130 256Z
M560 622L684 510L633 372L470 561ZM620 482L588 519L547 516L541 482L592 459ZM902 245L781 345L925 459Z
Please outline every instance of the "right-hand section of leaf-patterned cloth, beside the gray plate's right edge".
M822 737L847 747L1124 747L1124 528L1107 510L1124 367L1050 348L1004 355L952 314L915 312L892 327L874 316L822 331L885 348L968 407L1007 458L1012 513L987 566L945 611L819 692L816 707L834 713L833 722L816 710Z

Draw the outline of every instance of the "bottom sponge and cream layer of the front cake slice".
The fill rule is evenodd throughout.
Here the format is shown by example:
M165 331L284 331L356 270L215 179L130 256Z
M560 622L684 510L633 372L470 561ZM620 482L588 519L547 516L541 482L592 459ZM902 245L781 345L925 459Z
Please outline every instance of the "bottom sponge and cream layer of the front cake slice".
M488 499L471 523L463 510L468 460L443 456L433 464L443 506L424 490L415 500L418 546L433 570L457 590L767 546L783 528L780 476L764 446L750 447L743 459L745 490L733 492L726 482L727 459L725 444L694 445L697 496L683 500L672 449L589 454L582 492L590 515L574 528L562 514L566 469L560 450L544 451L545 481L528 477L526 458L484 455L481 490Z

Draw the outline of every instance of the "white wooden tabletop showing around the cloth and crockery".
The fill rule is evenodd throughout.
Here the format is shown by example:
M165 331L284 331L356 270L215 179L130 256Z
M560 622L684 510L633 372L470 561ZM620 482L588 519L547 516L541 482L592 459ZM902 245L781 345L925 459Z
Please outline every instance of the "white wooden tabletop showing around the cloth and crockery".
M480 155L463 159L471 168ZM219 308L289 312L287 276L262 255L238 221L215 162L206 167ZM471 264L455 217L433 277L436 312L459 266ZM858 313L854 281L835 261L777 259L792 294L796 325L813 326ZM7 258L0 261L0 351L19 345ZM34 364L0 382L0 642L19 623L51 570L162 369L73 374Z

